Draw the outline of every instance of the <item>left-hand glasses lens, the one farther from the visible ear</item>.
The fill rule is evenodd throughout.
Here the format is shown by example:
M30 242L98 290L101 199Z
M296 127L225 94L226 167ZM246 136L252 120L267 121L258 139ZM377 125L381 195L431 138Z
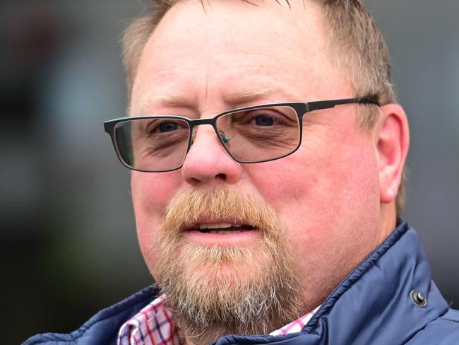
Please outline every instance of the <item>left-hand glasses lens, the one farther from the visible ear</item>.
M115 127L121 160L131 168L152 172L182 165L189 133L188 122L174 117L133 119Z

